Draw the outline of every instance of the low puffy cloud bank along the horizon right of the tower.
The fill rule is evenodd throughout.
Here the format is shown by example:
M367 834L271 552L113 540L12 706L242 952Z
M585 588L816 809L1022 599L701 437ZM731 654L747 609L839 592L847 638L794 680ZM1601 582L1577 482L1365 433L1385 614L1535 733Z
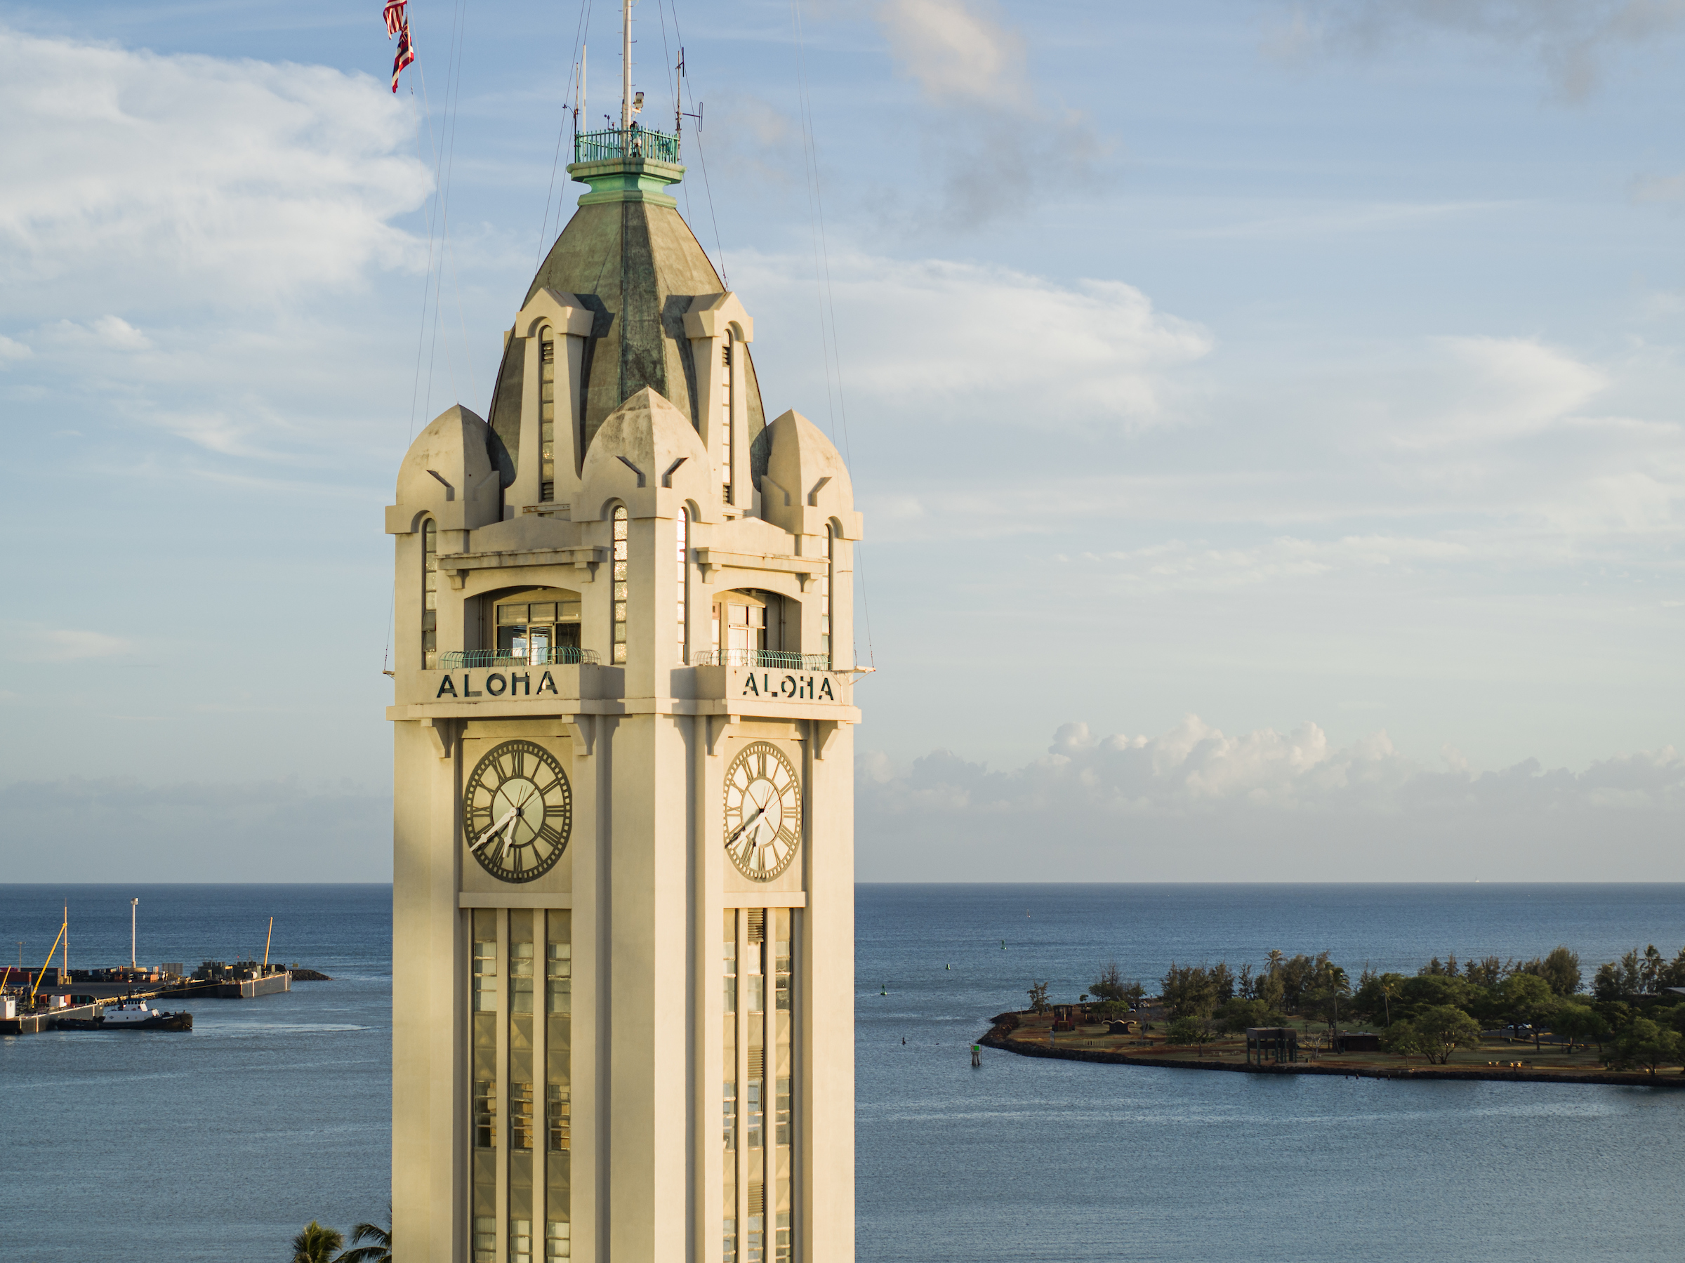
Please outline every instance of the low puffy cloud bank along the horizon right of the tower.
M907 768L866 754L856 786L868 881L890 864L971 881L1685 874L1673 748L1581 773L1532 759L1476 773L1451 749L1424 766L1385 733L1335 746L1313 722L1227 736L1188 716L1156 738L1065 724L1045 758L1009 771L949 751Z

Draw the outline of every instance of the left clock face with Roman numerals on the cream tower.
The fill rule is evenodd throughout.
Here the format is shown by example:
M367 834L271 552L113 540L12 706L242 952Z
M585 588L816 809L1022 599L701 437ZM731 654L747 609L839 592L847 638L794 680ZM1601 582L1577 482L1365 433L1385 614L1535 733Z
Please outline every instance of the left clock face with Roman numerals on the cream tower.
M549 872L573 832L573 788L561 763L532 741L504 741L485 754L462 793L468 854L504 881Z

